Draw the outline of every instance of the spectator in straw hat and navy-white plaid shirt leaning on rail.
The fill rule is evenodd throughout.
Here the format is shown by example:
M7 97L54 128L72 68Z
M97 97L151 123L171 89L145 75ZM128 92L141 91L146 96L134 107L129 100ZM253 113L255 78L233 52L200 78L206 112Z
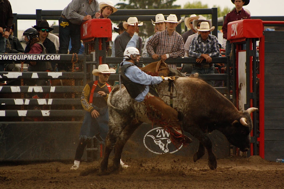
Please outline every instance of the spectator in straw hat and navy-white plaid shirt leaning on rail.
M191 74L214 74L215 67L211 63L212 57L220 55L218 39L210 34L215 27L210 28L208 22L201 22L200 28L195 27L195 29L199 31L199 35L193 38L189 46L189 56L196 58ZM205 64L203 64L203 60L206 60ZM207 83L214 85L214 81L208 81Z

